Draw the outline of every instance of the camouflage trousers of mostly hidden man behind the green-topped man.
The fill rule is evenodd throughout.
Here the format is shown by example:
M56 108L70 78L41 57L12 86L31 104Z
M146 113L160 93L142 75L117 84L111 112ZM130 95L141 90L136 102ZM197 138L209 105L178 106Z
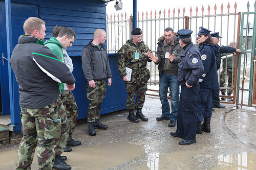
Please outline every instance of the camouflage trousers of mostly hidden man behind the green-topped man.
M64 91L69 91L69 90L64 90ZM66 115L67 115L69 127L70 127L69 133L72 134L74 132L76 122L77 122L77 116L78 116L78 107L76 105L75 96L72 93L72 91L69 91L68 94L65 94L65 95L63 95L63 92L62 92L62 103L66 108Z

